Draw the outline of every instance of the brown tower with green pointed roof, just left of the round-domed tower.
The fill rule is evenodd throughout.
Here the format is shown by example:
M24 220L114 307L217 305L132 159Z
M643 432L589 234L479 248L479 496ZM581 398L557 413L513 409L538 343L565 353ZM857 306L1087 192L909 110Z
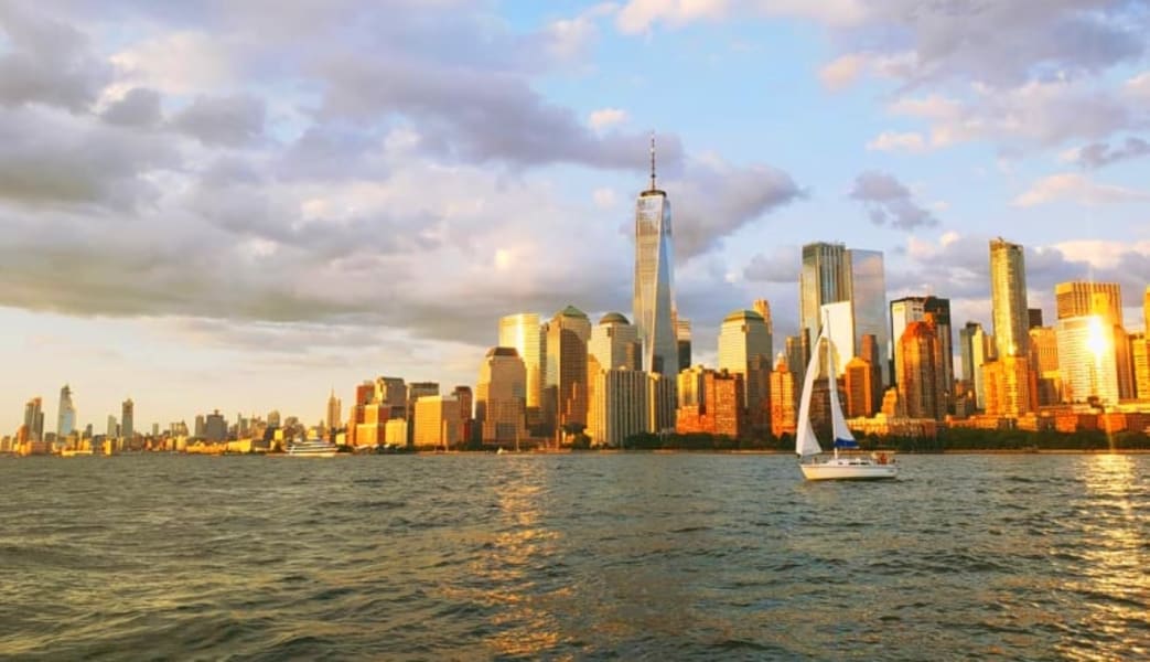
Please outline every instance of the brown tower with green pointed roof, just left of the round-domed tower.
M577 307L567 306L555 313L545 328L544 419L554 429L585 425L586 343L591 340L591 320Z

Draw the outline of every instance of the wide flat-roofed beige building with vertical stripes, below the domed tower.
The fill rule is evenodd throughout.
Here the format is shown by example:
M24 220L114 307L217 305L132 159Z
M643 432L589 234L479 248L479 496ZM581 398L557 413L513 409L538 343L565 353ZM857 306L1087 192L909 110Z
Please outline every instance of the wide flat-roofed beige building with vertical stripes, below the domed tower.
M593 360L598 365L598 360ZM656 374L664 379L661 374ZM650 432L649 373L629 366L596 367L589 383L586 434L597 446L623 447L627 437Z

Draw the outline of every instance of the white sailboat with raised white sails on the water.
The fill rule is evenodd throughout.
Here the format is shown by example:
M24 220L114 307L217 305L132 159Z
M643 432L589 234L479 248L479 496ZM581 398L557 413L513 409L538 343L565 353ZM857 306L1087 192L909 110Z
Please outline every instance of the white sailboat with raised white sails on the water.
M819 338L811 345L811 362L806 365L806 376L803 379L803 396L799 401L798 429L795 433L795 452L799 457L799 467L807 480L879 480L898 477L898 465L891 454L879 452L871 456L862 454L839 455L839 450L858 450L854 435L846 427L846 418L838 404L838 387L835 383L835 349L828 334L828 322L823 313L822 329ZM814 379L818 375L819 349L827 342L827 374L830 390L830 421L834 431L834 456L825 457L819 439L811 426L811 395L814 391Z

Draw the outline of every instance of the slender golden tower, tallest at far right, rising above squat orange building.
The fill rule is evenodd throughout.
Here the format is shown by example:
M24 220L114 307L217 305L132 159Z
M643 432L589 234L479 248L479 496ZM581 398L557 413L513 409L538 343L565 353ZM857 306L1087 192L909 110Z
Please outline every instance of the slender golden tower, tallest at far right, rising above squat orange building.
M1026 260L1002 237L990 241L990 309L998 358L1027 356Z

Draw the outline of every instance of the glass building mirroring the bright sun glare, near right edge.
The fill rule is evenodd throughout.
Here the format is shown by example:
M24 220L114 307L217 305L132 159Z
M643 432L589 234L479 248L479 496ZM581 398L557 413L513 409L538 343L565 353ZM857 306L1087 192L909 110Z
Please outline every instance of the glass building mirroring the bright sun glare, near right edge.
M1058 320L1058 370L1065 402L1097 398L1101 404L1118 404L1118 355L1109 321L1101 314Z

